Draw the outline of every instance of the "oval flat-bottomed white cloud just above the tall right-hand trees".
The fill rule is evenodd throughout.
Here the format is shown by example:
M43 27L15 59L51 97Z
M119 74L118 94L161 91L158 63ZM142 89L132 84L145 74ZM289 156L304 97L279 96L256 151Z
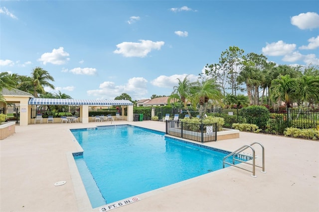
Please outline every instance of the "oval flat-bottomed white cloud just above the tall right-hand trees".
M296 44L287 44L280 40L277 43L266 43L266 47L262 48L264 55L282 56L292 53L296 49Z

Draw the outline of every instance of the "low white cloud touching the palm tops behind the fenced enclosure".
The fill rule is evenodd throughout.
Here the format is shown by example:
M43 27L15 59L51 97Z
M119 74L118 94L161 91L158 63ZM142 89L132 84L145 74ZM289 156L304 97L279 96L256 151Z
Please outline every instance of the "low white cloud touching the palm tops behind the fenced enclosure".
M154 79L151 81L151 84L160 88L173 88L174 86L178 85L178 80L183 81L184 78L187 76L187 79L190 82L196 82L198 77L195 75L188 75L188 74L175 74L175 75L171 75L171 76L164 76L161 75L160 77Z

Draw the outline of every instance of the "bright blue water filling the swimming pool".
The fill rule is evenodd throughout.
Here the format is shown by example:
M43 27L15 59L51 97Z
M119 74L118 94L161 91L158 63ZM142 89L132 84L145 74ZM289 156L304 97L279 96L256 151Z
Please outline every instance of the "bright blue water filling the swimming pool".
M72 129L74 156L93 208L222 169L227 152L131 125Z

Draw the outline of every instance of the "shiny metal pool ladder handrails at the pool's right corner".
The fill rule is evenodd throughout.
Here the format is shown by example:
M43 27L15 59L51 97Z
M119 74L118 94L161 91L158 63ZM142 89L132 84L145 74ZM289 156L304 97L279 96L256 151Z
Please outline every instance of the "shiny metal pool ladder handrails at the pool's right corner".
M262 166L258 166L255 163L255 149L252 147L254 144L259 144L261 146L261 148L262 148L262 157L263 157L262 158L262 160L263 160L263 165ZM245 149L248 149L248 148L251 148L251 150L253 151L253 158L252 158L253 163L248 163L246 161L239 160L239 159L235 158L239 153L241 153L242 151L244 151ZM233 156L233 163L228 163L228 162L225 161L230 156ZM252 165L253 166L253 170L251 171L249 169L245 169L243 167L237 166L237 165L235 165L235 161L239 161L239 162L242 162L242 163L246 163L246 164ZM233 151L229 155L225 156L224 159L223 159L223 168L225 168L225 164L228 164L228 165L231 165L231 166L235 166L237 168L252 172L253 173L252 177L257 177L255 175L255 167L256 166L259 167L259 168L262 168L262 173L266 173L265 172L265 148L264 148L264 146L261 143L258 143L258 142L254 142L254 143L252 143L250 145L244 145L244 146L240 147L239 149L237 149L236 151Z

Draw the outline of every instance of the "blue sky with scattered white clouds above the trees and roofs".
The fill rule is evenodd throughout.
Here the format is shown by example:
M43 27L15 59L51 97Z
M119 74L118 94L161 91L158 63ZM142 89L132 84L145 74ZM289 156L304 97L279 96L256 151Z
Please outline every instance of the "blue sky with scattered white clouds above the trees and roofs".
M1 72L41 67L73 99L169 96L230 46L319 65L319 1L0 0Z

